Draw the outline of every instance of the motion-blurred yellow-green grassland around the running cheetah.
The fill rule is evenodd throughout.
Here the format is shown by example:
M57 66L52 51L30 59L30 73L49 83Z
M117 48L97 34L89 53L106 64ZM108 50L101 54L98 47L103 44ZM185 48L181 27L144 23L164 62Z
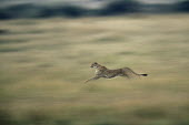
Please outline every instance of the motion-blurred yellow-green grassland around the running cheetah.
M0 21L1 125L189 125L189 14ZM92 62L148 77L83 82Z

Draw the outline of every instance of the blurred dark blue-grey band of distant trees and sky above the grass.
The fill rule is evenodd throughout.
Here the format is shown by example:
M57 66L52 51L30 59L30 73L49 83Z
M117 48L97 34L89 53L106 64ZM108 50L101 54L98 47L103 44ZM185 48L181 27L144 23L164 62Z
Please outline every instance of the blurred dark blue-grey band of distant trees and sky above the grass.
M101 17L189 11L188 0L0 0L0 19Z

